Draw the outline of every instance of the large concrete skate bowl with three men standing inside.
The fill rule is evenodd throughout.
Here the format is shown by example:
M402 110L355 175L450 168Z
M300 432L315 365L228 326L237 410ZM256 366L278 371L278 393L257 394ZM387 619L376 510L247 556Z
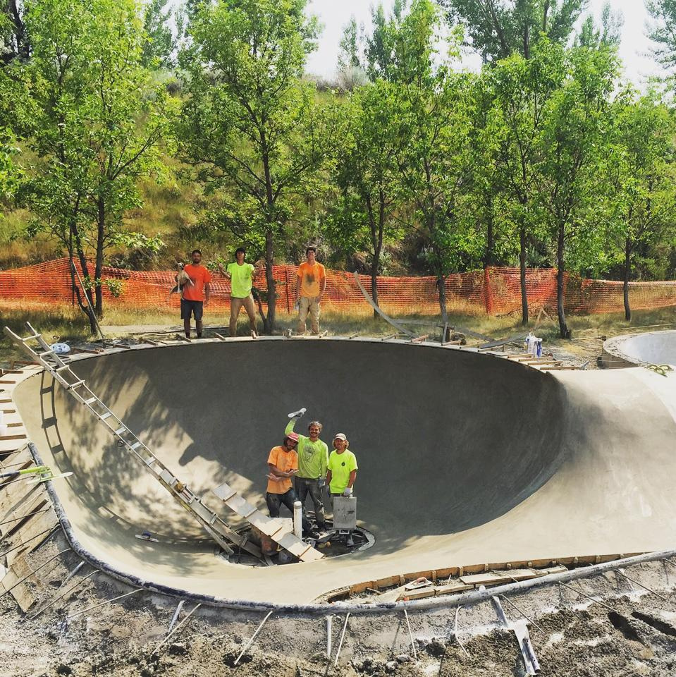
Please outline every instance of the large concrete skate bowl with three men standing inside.
M49 375L27 379L15 397L32 441L75 473L54 482L72 539L161 590L304 604L389 575L675 542L676 380L648 370L553 376L469 350L326 338L142 348L73 370L197 494L227 481L264 508L267 453L301 405L299 428L318 418L324 439L345 432L357 454L374 547L241 566ZM159 542L135 538L143 530Z

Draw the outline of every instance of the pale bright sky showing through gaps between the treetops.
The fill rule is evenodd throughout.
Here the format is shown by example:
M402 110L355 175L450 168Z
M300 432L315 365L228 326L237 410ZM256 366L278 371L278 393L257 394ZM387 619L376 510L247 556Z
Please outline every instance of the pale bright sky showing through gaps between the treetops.
M385 8L391 8L394 0L382 0ZM589 11L598 18L601 16L605 0L590 0ZM319 49L309 57L307 70L330 78L336 72L338 59L338 43L343 35L343 27L351 16L355 16L357 23L370 25L369 0L310 0L308 11L319 16L324 24L324 31L319 40ZM648 13L643 0L611 0L613 10L619 10L624 16L622 26L622 43L620 56L625 64L625 75L636 85L645 82L649 75L659 73L650 54L650 41L646 36L646 21ZM472 67L472 61L467 61Z

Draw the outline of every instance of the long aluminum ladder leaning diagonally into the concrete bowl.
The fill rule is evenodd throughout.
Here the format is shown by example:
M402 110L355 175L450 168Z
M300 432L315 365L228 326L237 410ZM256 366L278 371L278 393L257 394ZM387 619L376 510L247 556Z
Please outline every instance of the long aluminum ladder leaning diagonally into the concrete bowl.
M232 554L233 548L231 544L235 544L252 555L262 558L259 547L249 542L247 537L235 532L211 508L207 508L202 503L202 499L190 491L183 482L180 482L178 477L175 477L166 468L164 463L161 463L159 458L99 400L85 381L78 378L75 372L70 369L68 358L64 359L54 353L54 350L51 350L47 342L42 338L42 335L38 331L35 331L29 322L26 322L26 326L30 330L30 336L25 338L17 336L8 327L5 327L4 331L18 346L31 355L39 365L42 365L78 402L85 405L97 417L99 422L103 423L110 430L118 441L121 441L125 448L141 461L145 469L159 480L160 484L173 496L173 499L178 501L204 527L204 530L224 551ZM31 341L37 342L39 350L35 350L30 346Z

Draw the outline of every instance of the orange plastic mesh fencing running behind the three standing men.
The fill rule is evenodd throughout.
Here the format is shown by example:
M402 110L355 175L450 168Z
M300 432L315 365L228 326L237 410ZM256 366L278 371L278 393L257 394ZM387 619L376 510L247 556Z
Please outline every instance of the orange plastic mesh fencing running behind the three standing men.
M82 273L79 264L78 271ZM90 274L93 267L90 267ZM293 312L296 266L275 266L278 311ZM371 293L371 278L359 278ZM104 266L102 271L104 304L127 310L178 310L178 294L173 271L138 272ZM257 288L266 291L264 276ZM376 284L380 307L391 315L438 315L438 288L434 277L386 277ZM230 283L219 273L211 277L211 307L230 306ZM445 281L449 312L505 315L521 310L521 284L518 268L489 268L477 272L449 275ZM556 305L555 269L528 269L526 291L529 306L554 308ZM114 293L113 293L114 292ZM623 310L622 282L589 280L566 275L565 309L573 313L619 312ZM632 308L647 309L676 305L676 281L631 282ZM74 305L67 258L0 272L0 301L14 307ZM368 315L371 307L351 273L326 271L324 309Z

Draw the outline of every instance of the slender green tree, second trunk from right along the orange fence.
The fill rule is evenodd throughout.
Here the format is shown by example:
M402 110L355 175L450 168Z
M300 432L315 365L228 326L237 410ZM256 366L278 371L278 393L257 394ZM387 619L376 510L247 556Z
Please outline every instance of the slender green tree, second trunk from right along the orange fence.
M546 105L537 172L538 197L556 252L557 312L562 338L570 338L564 310L565 252L587 237L585 210L602 190L603 146L610 140L610 95L618 75L615 50L578 47L567 54L567 76ZM591 241L591 238L588 238Z

